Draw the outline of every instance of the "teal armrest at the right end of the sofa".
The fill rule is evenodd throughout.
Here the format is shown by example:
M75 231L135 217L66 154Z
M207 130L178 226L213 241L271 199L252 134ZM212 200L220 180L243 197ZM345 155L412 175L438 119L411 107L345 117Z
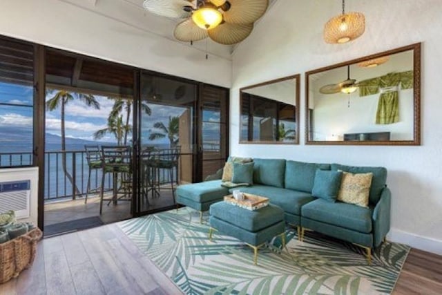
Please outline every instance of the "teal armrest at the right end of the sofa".
M373 242L374 247L378 247L390 231L390 208L392 202L392 192L384 187L381 198L373 211Z

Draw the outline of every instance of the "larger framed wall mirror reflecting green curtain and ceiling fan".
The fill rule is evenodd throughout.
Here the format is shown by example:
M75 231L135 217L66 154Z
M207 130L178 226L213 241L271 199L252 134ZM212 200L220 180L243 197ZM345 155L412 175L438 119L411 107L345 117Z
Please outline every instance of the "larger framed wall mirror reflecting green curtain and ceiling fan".
M311 70L306 144L421 144L421 44Z

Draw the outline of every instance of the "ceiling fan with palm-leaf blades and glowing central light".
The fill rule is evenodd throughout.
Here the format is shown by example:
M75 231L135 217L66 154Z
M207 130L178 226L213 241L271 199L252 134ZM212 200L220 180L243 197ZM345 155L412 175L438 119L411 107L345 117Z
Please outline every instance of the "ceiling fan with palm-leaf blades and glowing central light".
M209 37L219 44L233 45L250 35L269 0L145 0L143 6L155 15L184 19L173 32L180 41Z

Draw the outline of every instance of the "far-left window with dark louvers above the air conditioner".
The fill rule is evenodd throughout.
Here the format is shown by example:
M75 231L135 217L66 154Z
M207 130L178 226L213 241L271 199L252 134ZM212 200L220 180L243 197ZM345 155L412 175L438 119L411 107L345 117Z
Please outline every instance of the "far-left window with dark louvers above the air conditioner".
M34 46L0 39L0 167L33 164Z

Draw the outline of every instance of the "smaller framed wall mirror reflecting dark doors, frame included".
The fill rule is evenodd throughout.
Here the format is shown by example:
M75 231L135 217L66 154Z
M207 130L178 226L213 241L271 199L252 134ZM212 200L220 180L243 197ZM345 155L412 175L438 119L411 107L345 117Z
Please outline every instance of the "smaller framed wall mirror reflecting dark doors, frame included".
M298 74L240 89L240 144L299 143L299 80Z

